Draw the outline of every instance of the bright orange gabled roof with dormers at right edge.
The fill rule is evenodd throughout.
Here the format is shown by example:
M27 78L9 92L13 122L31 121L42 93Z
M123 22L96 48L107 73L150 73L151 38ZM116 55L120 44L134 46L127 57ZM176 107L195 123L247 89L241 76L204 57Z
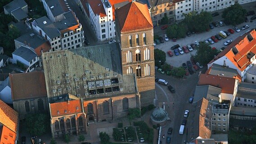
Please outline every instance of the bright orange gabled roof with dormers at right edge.
M246 67L251 64L250 57L255 54L256 30L254 29L239 36L226 49L211 60L210 63L226 56L240 71L244 71Z

